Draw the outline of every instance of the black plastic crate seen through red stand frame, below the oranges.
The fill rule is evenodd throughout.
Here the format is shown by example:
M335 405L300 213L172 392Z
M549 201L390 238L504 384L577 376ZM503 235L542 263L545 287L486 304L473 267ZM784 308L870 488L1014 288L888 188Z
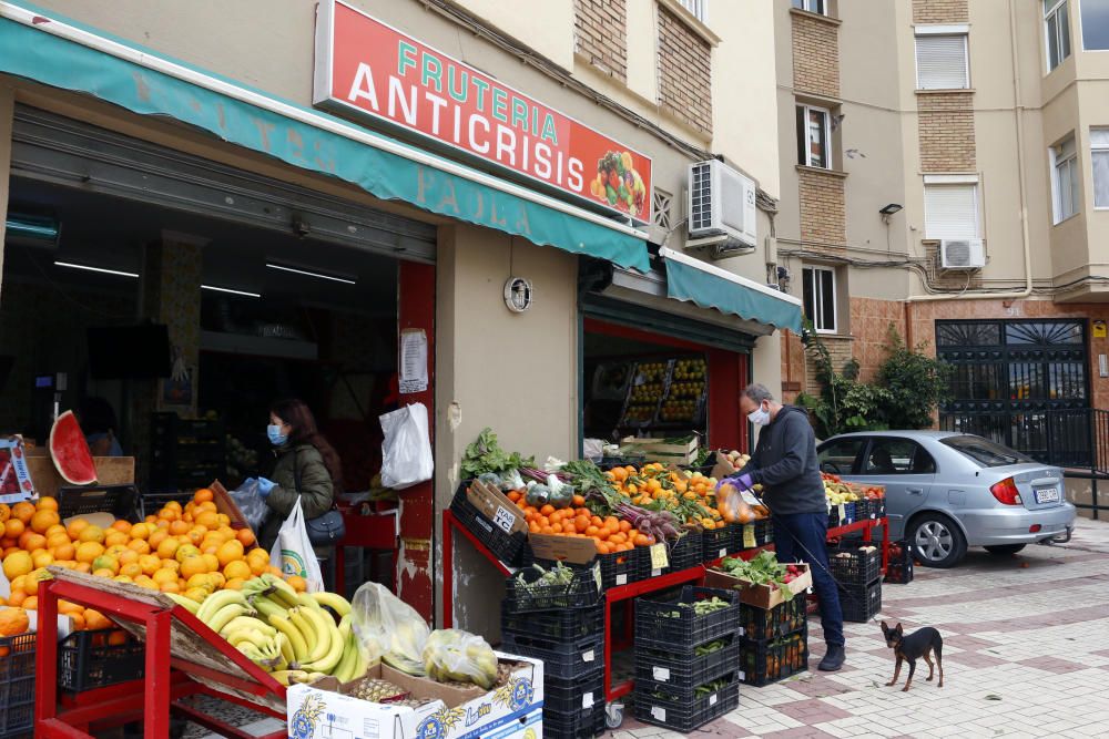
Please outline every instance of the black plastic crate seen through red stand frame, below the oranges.
M109 637L119 630L73 632L59 642L58 687L82 692L142 678L146 665L145 647L131 636L125 644L109 644Z

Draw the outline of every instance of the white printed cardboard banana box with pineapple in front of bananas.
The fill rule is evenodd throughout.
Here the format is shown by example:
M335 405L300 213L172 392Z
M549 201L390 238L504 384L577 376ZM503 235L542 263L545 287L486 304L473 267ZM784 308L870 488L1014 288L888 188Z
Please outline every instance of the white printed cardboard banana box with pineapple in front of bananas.
M293 739L538 739L542 737L543 664L497 653L511 663L503 685L492 690L445 685L413 677L388 665L369 669L401 688L419 708L374 704L350 694L364 679L339 684L323 678L286 692L288 736Z

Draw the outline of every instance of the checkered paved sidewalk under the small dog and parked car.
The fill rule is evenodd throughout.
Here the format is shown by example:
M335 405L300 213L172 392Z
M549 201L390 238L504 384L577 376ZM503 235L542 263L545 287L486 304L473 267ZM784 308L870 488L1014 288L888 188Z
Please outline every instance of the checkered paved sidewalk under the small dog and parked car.
M696 737L1109 737L1109 522L1079 519L1062 546L1013 557L971 550L950 571L916 568L883 588L879 618L944 636L944 688L923 660L909 692L887 688L894 659L876 622L848 624L847 665L824 654L810 620L813 671L751 688ZM627 718L612 739L678 737Z

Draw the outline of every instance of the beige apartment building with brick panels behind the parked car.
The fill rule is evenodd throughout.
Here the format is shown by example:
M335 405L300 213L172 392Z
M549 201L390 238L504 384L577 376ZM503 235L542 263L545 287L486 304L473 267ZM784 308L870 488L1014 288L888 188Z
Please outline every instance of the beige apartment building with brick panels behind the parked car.
M873 376L892 324L955 365L940 428L1045 454L1109 404L1109 2L774 12L790 291L837 362ZM796 336L782 366L814 389Z

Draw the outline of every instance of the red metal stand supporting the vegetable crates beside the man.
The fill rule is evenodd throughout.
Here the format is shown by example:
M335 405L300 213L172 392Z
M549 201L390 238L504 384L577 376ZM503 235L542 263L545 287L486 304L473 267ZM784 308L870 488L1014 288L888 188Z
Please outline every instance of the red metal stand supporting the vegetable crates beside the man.
M867 519L864 521L858 521L845 526L836 526L835 528L830 528L827 536L828 538L837 538L844 534L849 534L853 532L862 532L863 541L869 543L873 541L873 532L876 526L882 526L882 572L886 572L886 566L889 562L889 526L887 525L887 520L882 519ZM442 512L442 619L444 627L451 628L454 622L454 540L455 532L461 533L465 538L468 538L474 545L474 548L478 551L494 567L497 568L502 575L508 577L512 574L512 569L508 567L503 562L498 560L480 541L475 536L466 526L458 523L454 514L450 511ZM765 546L760 546L751 550L741 550L730 556L741 557L743 560L751 560L763 550L773 551L773 544L766 544ZM711 562L708 566L719 564L719 560ZM628 695L634 688L633 680L625 680L618 685L612 685L612 655L619 651L620 648L628 648L631 646L630 634L622 635L621 644L613 644L612 638L612 606L622 601L630 601L640 595L647 595L649 593L655 593L659 591L664 591L667 588L673 587L675 585L682 585L684 583L701 583L704 582L704 575L706 572L706 565L696 565L688 569L681 569L679 572L667 573L665 575L660 575L659 577L652 577L650 579L640 581L638 583L629 583L627 585L620 585L617 587L610 587L604 591L604 698L608 702L612 702ZM634 615L629 610L627 626L630 630L630 625L634 618ZM614 648L615 647L615 648Z

